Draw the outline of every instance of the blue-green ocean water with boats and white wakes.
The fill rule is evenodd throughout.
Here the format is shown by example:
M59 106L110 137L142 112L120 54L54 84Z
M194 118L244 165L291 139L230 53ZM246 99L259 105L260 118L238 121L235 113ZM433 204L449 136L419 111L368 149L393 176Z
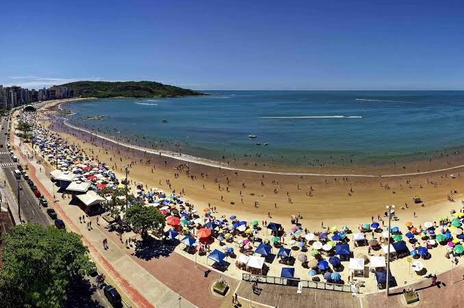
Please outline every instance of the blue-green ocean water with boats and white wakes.
M378 164L464 145L464 91L207 92L214 95L99 99L62 108L74 112L73 125L215 160Z

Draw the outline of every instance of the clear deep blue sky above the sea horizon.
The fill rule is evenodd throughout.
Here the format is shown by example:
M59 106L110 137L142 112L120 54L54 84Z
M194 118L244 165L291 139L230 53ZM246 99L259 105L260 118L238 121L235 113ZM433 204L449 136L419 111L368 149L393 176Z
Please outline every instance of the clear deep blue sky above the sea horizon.
M4 85L464 90L464 1L21 0L2 12Z

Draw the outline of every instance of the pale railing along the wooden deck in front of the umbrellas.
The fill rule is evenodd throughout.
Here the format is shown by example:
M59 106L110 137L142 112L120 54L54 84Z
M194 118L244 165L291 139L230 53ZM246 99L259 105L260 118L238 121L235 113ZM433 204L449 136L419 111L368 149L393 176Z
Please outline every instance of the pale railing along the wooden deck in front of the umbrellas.
M272 277L272 276L263 276L257 274L242 274L242 280L244 281L257 281L259 283L270 283L274 285L298 285L301 283L302 287L310 287L311 289L320 289L320 290L331 290L339 292L350 292L350 293L359 293L361 294L361 289L359 285L341 285L339 283L324 283L317 281L308 281L300 279L289 279L281 277Z

